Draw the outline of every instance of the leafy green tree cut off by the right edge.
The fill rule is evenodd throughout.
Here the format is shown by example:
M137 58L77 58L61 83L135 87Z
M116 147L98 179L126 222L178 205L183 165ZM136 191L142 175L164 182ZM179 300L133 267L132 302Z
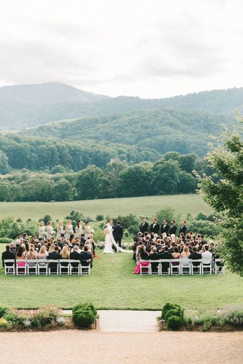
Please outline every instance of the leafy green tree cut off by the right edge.
M222 132L217 138L219 146L212 146L207 160L221 176L218 181L198 176L199 192L216 211L224 212L221 227L221 255L232 272L243 276L243 142L240 130Z

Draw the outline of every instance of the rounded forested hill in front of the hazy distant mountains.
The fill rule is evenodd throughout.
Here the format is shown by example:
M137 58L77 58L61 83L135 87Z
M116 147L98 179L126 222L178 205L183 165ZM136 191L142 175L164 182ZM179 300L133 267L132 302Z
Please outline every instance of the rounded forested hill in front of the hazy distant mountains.
M23 135L60 139L108 141L204 156L209 135L222 130L221 124L234 124L234 118L199 111L146 110L104 117L65 120L23 130Z

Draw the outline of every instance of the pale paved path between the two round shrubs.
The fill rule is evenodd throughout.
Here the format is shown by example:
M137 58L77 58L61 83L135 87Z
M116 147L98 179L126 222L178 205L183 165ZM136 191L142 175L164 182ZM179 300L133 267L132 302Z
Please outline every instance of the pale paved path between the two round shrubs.
M65 313L72 313L66 310ZM158 331L156 317L161 311L98 310L99 330L107 332Z

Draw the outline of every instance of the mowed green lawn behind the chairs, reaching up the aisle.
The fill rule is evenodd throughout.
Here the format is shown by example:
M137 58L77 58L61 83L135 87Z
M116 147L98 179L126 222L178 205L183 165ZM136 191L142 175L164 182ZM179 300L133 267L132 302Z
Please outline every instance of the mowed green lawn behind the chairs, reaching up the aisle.
M1 245L1 250L3 246ZM90 276L5 276L0 269L0 306L72 308L92 302L98 309L160 310L166 302L188 308L220 308L242 298L243 279L225 275L140 276L130 253L97 250Z

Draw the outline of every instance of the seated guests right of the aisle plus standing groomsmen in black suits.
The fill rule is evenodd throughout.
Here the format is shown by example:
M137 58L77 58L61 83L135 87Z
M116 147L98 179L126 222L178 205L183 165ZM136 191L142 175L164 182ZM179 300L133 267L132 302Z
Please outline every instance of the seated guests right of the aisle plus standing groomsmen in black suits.
M133 243L133 259L137 263L134 273L140 272L140 260L173 260L180 259L184 267L190 265L190 260L202 260L204 265L210 265L212 261L219 258L217 254L217 245L213 240L205 240L203 234L195 235L193 231L187 231L186 221L184 220L179 229L179 235L169 233L171 228L164 219L164 224L161 225L161 234L154 232L156 227L156 219L150 225L150 233L145 229L148 228L146 218L140 225L140 230ZM175 224L172 221L172 227ZM164 231L166 230L166 231ZM156 227L156 231L159 232ZM192 262L193 263L193 262ZM195 262L193 265L198 266L200 263ZM177 266L178 262L172 265ZM146 266L146 264L144 264ZM152 271L156 271L158 263L151 263ZM169 263L162 264L162 271L167 272Z

